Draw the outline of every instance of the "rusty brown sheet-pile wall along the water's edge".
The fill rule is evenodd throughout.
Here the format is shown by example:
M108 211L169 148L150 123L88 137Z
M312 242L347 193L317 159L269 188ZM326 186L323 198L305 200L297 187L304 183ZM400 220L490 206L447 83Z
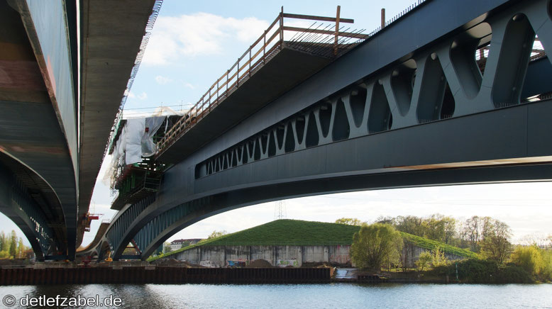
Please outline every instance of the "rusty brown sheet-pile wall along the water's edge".
M0 269L0 286L111 283L327 283L333 268L101 266Z

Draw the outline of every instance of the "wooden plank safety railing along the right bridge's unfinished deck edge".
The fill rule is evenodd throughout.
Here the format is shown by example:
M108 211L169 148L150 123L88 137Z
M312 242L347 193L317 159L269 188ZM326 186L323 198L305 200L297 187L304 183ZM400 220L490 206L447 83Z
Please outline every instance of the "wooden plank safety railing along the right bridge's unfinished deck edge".
M202 120L213 108L215 108L221 101L226 99L233 91L249 79L260 67L262 67L270 58L277 54L282 49L284 43L285 31L294 33L307 33L309 40L304 40L306 44L316 45L312 41L314 35L326 35L331 36L333 40L333 55L337 55L338 45L340 44L340 38L357 38L358 40L364 40L368 38L368 35L360 32L345 32L340 28L340 23L353 23L353 19L341 18L340 7L338 6L336 17L324 17L324 16L310 16L284 13L283 7L277 18L270 24L265 30L263 35L260 36L255 42L245 50L241 57L238 57L236 63L222 74L219 79L216 79L209 90L202 96L201 99L189 109L189 111L180 118L177 123L165 134L165 137L158 143L159 152L162 153L167 147L170 147L180 136L186 133L192 128L199 120ZM336 23L335 30L328 30L318 28L301 28L284 26L284 18L305 19L310 21L326 21ZM297 35L296 35L297 37ZM327 40L327 38L326 38ZM300 40L299 40L300 41Z

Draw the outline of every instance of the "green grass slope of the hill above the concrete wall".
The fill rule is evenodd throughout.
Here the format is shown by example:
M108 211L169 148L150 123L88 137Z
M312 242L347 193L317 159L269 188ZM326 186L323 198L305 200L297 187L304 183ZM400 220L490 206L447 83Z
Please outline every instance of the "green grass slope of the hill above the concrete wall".
M204 240L197 245L177 249L165 255L150 258L148 261L155 261L155 259L168 257L197 246L351 245L353 243L353 234L358 232L358 230L360 230L360 226L354 225L302 220L275 220L240 232L223 235L211 240ZM412 242L414 245L425 249L434 249L439 246L444 252L456 254L460 257L477 257L478 255L469 250L446 245L435 240L428 240L424 237L404 232L401 232L401 234L405 242Z

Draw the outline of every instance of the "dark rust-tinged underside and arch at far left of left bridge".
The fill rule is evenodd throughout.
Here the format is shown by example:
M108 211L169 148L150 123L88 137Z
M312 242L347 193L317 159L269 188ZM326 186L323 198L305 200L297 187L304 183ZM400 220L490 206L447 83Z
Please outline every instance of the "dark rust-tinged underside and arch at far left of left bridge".
M48 88L52 81L43 75L43 55L35 50L38 39L26 14L26 6L0 1L0 162L9 187L2 212L44 259L74 247L77 191L59 106Z

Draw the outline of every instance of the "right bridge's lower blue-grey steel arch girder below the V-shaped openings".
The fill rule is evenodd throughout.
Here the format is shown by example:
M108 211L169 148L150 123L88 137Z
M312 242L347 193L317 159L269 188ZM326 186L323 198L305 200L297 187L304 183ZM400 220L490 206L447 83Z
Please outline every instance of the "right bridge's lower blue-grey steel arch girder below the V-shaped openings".
M114 228L142 221L133 240L145 259L182 228L255 203L370 189L551 181L551 118L552 101L540 101L309 147L193 183L177 166L165 174L162 195L123 209L128 217L116 220L128 225ZM182 191L193 193L171 207Z

